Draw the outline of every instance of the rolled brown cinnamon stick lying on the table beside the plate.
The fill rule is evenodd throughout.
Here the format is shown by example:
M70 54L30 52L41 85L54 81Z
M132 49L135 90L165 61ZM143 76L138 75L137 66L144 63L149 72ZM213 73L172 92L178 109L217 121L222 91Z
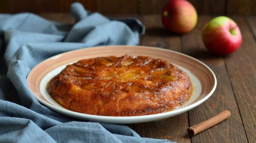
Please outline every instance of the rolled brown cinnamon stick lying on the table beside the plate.
M216 125L217 123L222 122L223 120L227 119L230 116L231 116L230 111L225 110L204 122L200 122L200 123L188 128L188 134L195 135L201 131L204 131L205 129L208 129L208 128Z

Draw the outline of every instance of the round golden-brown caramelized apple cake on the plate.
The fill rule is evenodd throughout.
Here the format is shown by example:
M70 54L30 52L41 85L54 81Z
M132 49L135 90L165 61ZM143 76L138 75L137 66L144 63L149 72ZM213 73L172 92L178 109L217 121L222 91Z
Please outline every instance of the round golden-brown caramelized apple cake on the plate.
M67 65L48 92L72 111L101 116L140 116L171 110L192 92L188 75L165 60L109 56Z

